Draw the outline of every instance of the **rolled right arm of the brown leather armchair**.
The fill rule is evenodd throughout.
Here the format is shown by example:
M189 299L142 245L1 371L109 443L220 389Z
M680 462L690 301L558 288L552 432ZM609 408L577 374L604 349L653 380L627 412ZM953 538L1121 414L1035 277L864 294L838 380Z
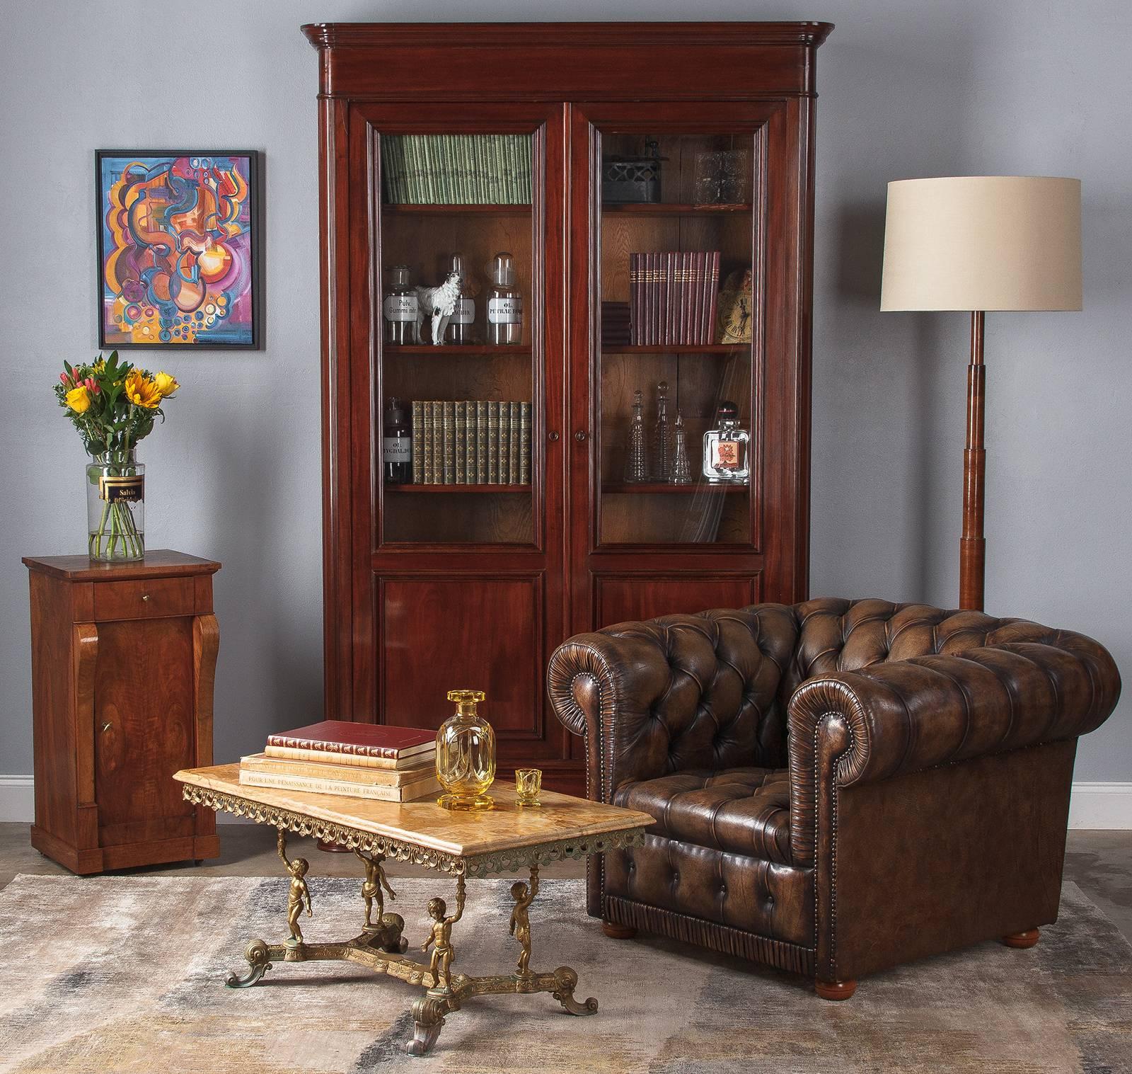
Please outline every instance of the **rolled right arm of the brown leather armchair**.
M1120 673L1091 638L1017 622L987 641L961 655L823 675L795 691L788 725L796 859L813 860L823 751L833 781L848 787L1074 738L1115 708Z

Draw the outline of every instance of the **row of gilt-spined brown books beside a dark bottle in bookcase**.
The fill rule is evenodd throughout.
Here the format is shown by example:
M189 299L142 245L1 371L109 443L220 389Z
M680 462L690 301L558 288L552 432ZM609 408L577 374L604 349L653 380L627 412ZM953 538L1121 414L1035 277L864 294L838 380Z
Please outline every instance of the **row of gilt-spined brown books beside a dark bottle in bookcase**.
M530 485L531 404L413 400L414 485Z

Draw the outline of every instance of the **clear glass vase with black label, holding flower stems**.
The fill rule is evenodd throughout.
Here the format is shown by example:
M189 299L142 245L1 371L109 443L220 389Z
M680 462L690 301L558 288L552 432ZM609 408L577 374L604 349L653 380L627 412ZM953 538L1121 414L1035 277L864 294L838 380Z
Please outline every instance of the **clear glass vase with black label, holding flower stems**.
M87 462L86 523L92 560L145 559L145 466L132 448L95 454Z

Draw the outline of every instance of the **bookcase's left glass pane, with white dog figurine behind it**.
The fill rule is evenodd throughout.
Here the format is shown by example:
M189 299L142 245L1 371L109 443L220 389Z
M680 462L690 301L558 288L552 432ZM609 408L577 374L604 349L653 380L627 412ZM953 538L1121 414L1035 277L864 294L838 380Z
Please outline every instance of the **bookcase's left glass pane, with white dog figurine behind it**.
M544 139L434 131L377 139L378 542L534 545Z

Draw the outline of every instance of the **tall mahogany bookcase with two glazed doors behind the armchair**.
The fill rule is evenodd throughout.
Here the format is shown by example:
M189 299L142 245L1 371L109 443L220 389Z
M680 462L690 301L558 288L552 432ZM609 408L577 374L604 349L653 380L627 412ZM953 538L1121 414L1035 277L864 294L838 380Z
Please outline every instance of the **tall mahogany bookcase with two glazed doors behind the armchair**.
M319 51L327 718L437 726L446 690L483 689L500 772L534 765L577 792L581 743L546 698L556 645L806 596L815 58L831 28L303 27ZM393 147L452 135L525 139L530 199L406 198ZM726 202L704 197L712 153L738 167ZM659 201L603 197L603 164L642 155L661 157ZM487 273L503 250L523 333L492 347ZM749 343L602 342L631 253L704 250L723 278L751 271ZM479 342L385 344L392 266L436 284L457 252ZM718 403L738 406L749 485L625 481L633 393L651 427L662 381L693 477ZM391 398L529 401L530 483L386 484Z

